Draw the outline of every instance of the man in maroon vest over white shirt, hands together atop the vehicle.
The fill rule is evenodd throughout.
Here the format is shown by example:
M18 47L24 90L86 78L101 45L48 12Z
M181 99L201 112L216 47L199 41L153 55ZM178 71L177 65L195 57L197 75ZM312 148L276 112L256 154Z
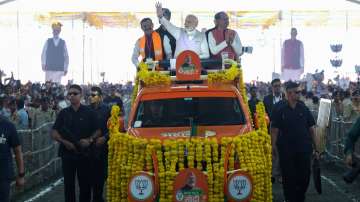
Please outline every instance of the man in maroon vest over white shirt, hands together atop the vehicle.
M221 59L226 53L228 58L237 60L243 54L239 35L235 30L228 29L229 17L225 12L215 14L215 29L209 32L209 48L212 58Z

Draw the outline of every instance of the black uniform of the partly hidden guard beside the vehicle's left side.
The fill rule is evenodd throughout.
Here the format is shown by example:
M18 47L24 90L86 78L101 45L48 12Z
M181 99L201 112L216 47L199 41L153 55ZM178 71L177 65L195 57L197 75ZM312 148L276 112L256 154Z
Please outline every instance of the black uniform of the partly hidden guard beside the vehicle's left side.
M107 128L107 121L110 118L110 108L105 104L100 104L97 108L91 106L96 113L97 123L100 127L101 133L106 139L109 138L109 130ZM107 176L107 143L101 148L93 147L95 151L93 161L93 202L104 202L103 190L104 183Z

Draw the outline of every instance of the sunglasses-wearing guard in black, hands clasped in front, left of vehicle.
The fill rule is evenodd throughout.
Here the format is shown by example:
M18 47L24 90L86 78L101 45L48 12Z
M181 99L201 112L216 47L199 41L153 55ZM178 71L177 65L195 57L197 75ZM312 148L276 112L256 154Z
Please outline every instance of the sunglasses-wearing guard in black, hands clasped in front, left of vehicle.
M75 176L79 183L80 202L91 201L91 166L93 155L90 147L100 136L96 114L80 104L82 89L73 84L68 98L71 106L60 111L53 126L52 137L60 143L59 155L64 174L65 202L76 202Z

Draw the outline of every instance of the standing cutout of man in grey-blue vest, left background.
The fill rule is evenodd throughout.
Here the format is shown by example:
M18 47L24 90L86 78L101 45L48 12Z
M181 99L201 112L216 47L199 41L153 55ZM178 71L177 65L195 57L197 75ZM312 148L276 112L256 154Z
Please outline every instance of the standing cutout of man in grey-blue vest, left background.
M69 55L66 43L59 37L62 24L60 22L51 25L53 38L49 38L44 45L41 54L42 70L45 71L45 81L55 83L61 82L61 77L65 76L69 66Z

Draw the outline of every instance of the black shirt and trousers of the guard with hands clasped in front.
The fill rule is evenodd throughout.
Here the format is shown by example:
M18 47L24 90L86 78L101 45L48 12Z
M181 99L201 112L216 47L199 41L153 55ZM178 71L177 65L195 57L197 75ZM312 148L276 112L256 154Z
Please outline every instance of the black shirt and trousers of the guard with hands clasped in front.
M75 175L77 175L80 187L80 202L91 200L91 166L93 156L89 150L82 150L78 142L82 138L88 138L98 129L96 114L89 107L80 105L75 111L71 106L60 111L56 118L53 129L60 135L72 142L78 152L69 151L64 145L60 145L59 155L62 159L62 169L65 185L65 202L76 202L75 199Z

